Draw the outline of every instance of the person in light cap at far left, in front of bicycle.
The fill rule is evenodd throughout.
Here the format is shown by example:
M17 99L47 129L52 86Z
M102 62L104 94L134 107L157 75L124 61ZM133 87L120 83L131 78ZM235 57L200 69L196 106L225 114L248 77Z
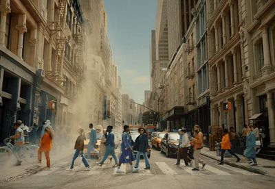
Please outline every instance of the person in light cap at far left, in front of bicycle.
M21 150L24 144L24 133L23 130L20 128L22 122L17 121L14 123L13 128L15 130L14 136L11 136L11 139L14 139L14 147L12 148L12 152L14 153L15 157L17 158L17 166L21 165Z

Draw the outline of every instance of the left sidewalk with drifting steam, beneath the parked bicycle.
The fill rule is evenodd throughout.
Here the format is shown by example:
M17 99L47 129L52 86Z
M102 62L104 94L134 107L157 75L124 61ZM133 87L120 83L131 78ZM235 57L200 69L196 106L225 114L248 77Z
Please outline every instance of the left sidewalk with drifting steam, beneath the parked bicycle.
M71 157L73 153L71 149L53 149L50 152L51 164L54 165L61 160L64 160L68 157ZM9 181L10 179L15 179L19 177L23 177L25 175L32 175L39 171L42 171L46 167L45 155L42 154L42 164L35 163L27 163L22 162L21 166L14 166L16 160L15 157L12 157L11 160L5 162L4 164L0 164L0 183L3 181Z

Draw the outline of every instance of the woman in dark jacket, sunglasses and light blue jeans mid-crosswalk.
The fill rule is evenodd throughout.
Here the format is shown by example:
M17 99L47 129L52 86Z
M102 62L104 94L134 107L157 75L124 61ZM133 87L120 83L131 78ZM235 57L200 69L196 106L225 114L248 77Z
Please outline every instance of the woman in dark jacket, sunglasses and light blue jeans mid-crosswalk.
M143 156L145 161L145 168L150 169L151 165L148 160L147 152L151 151L149 143L148 143L148 134L144 127L140 127L137 129L137 131L140 133L140 136L137 136L135 139L135 144L133 149L137 151L137 159L135 162L135 168L133 172L138 172L139 170L139 164L140 164L140 155Z

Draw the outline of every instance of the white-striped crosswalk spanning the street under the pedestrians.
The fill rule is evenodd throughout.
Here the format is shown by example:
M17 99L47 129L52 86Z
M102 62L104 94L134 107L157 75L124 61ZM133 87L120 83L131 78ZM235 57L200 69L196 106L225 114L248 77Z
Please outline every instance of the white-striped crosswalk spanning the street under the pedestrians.
M50 170L44 170L36 173L36 177L45 175L257 175L245 171L241 168L236 168L228 165L219 166L217 164L206 164L205 168L201 168L200 171L192 171L192 167L188 166L176 166L174 164L167 164L166 162L153 162L151 169L144 169L144 162L140 162L140 168L138 173L132 173L131 166L129 164L122 164L120 166L121 173L117 173L118 168L112 168L111 164L104 164L97 166L92 164L91 170L85 171L83 164L76 164L73 171L67 171L69 163L56 164L52 166Z

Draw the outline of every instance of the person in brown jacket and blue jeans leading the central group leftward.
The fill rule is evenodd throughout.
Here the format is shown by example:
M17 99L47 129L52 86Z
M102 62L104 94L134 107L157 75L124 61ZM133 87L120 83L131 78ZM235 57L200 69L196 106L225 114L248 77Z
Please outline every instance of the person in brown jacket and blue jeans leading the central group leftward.
M84 140L86 140L84 129L80 127L80 129L79 129L79 136L76 139L76 143L74 144L74 149L76 151L74 152L74 157L73 157L73 160L72 160L72 164L71 164L71 166L67 170L69 170L69 171L73 170L73 168L74 168L74 161L76 160L76 158L78 156L82 157L82 162L85 165L85 169L86 170L90 170L91 169L90 166L89 166L89 164L88 164L88 162L87 162L87 160L86 160L86 158L83 155Z

